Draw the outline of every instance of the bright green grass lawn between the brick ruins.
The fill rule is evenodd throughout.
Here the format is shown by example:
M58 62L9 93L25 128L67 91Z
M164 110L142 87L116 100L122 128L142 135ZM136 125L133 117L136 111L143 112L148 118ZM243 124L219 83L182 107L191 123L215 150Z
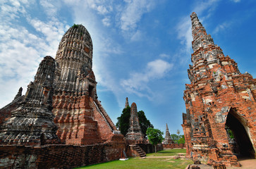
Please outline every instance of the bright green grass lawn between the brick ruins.
M175 156L178 153L183 153L183 149L170 149L159 151L157 156ZM147 156L153 154L147 154ZM103 169L103 168L185 168L188 164L193 163L187 159L171 159L171 158L129 158L128 161L110 161L95 165L88 165L81 168L87 169Z

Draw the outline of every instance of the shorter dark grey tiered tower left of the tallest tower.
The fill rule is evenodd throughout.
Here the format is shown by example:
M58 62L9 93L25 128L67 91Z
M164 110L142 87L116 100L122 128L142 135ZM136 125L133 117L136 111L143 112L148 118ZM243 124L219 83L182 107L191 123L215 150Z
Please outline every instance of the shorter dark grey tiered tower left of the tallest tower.
M1 144L57 144L57 127L54 124L52 109L55 61L51 56L44 57L37 69L34 82L30 82L25 98L11 118L1 125ZM16 99L20 97L20 88Z

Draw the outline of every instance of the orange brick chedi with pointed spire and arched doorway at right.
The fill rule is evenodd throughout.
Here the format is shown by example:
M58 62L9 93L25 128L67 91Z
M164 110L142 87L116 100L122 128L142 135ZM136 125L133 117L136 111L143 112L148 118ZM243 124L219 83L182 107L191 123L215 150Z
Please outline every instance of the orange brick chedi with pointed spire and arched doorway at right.
M255 158L256 80L207 35L196 13L192 20L193 51L183 99L187 156L210 165L240 166L235 154Z

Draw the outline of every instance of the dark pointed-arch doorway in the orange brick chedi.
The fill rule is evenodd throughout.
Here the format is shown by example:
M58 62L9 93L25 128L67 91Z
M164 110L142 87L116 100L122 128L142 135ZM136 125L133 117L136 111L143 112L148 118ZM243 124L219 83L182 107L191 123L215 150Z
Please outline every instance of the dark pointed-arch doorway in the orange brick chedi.
M255 150L243 125L243 120L236 111L231 108L226 118L226 131L229 138L229 145L233 153L238 156L255 158Z

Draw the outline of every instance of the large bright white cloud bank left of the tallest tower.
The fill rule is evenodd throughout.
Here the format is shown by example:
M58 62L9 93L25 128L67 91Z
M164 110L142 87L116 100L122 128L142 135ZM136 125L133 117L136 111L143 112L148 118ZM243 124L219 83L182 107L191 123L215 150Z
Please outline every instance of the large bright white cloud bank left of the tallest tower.
M56 54L59 41L66 25L59 20L42 22L26 12L28 1L10 1L5 11L1 11L0 23L0 107L8 104L20 86L23 94L30 81L34 80L39 62L46 55ZM13 10L13 11L12 11ZM13 16L13 17L10 17ZM36 32L16 24L16 18L27 19ZM31 27L30 27L31 28Z

